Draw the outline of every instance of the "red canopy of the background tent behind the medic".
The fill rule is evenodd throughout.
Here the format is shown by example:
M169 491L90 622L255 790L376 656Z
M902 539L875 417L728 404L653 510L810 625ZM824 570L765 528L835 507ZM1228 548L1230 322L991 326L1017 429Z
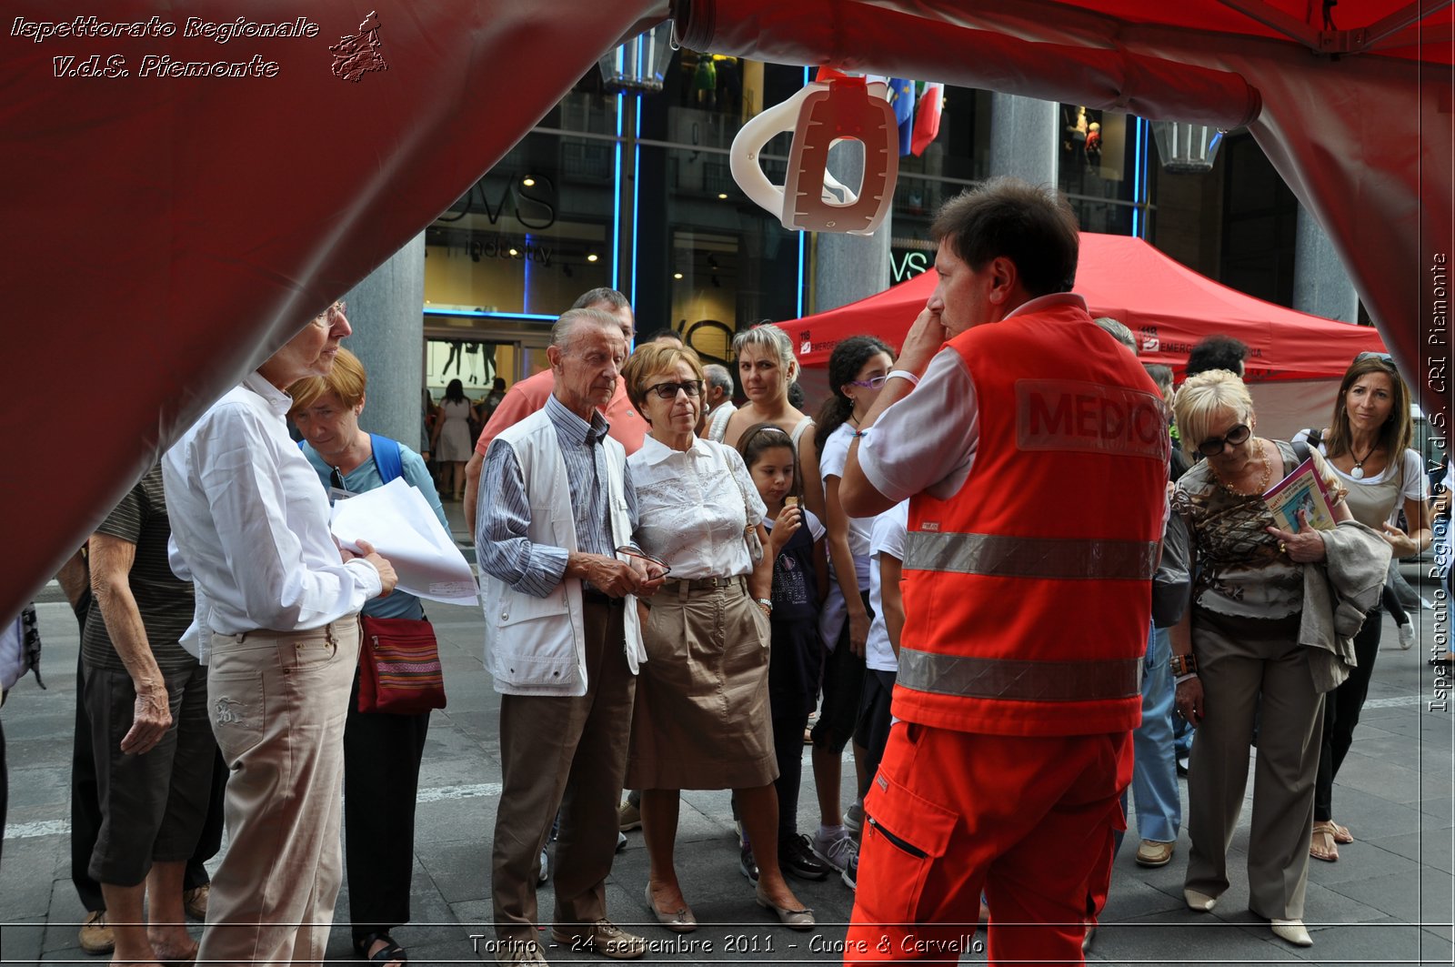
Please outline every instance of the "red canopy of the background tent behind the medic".
M805 367L828 366L834 345L870 333L898 347L924 309L938 275L915 275L877 296L783 323ZM1192 347L1212 333L1248 345L1248 382L1339 379L1356 354L1384 351L1379 333L1285 309L1199 275L1142 239L1081 234L1077 293L1093 316L1112 316L1136 333L1144 363L1179 376Z

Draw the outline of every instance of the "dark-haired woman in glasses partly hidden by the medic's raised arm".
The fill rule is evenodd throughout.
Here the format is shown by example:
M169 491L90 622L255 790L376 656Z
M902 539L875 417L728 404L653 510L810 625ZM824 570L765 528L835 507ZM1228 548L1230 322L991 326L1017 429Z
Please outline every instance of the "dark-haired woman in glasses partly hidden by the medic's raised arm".
M813 446L824 478L824 523L828 527L829 593L824 601L819 632L831 652L824 666L824 705L813 727L813 784L818 786L819 830L813 852L840 871L853 885L858 869L857 845L844 829L840 784L844 747L854 735L858 699L864 686L864 642L869 639L869 537L873 518L851 518L838 502L848 444L874 405L895 354L874 336L850 336L828 361L834 395L819 414ZM854 763L863 769L864 753L854 744ZM857 776L856 788L863 786ZM858 804L856 804L858 807ZM850 823L863 816L851 810Z

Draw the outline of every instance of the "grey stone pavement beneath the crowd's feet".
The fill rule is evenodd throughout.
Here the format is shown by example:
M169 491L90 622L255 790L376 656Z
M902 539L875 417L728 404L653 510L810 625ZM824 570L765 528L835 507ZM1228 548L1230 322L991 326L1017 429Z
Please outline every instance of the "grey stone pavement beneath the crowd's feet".
M458 505L450 505L458 516ZM1413 568L1406 574L1414 580ZM1424 587L1430 597L1433 587ZM10 807L0 859L0 961L100 964L77 947L81 906L70 883L68 776L76 702L76 622L52 588L38 604L45 642L47 690L26 680L0 712L10 773ZM1432 708L1440 683L1426 666L1435 639L1430 610L1419 616L1420 647L1400 651L1387 623L1369 703L1336 788L1336 814L1358 842L1340 848L1337 864L1312 862L1307 923L1314 947L1296 950L1275 939L1247 910L1247 830L1251 798L1234 836L1232 885L1211 915L1181 901L1186 832L1173 862L1138 867L1135 813L1128 845L1117 856L1112 893L1090 961L1119 964L1451 964L1452 941L1452 735L1455 709ZM420 772L415 830L413 922L394 936L412 964L492 961L489 837L499 800L499 700L482 668L482 616L476 609L432 604L450 706L431 721ZM1448 629L1448 625L1446 625ZM799 829L816 823L812 775L805 749L805 792ZM845 760L845 779L853 767ZM851 800L845 781L844 801ZM1186 789L1186 785L1183 785ZM1251 782L1250 782L1251 792ZM1186 795L1186 792L1184 792ZM738 872L738 852L726 792L685 792L678 833L684 893L701 929L674 935L643 920L647 861L640 830L627 833L608 883L608 912L636 925L652 944L639 963L840 961L853 896L837 878L792 885L818 915L812 935L770 923L752 903ZM226 843L224 843L226 849ZM551 909L541 888L541 910ZM346 888L339 897L329 941L330 960L352 960ZM201 926L192 926L194 935ZM984 941L984 932L976 935ZM589 955L551 945L553 963ZM982 963L982 948L962 957Z

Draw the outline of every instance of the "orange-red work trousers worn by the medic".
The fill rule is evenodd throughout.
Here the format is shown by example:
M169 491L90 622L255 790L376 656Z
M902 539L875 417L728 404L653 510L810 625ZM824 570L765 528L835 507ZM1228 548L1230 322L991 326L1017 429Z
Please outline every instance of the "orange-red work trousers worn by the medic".
M1106 893L1132 733L1013 737L895 722L864 798L845 964L1080 964L1088 891ZM1100 881L1100 883L1097 883Z

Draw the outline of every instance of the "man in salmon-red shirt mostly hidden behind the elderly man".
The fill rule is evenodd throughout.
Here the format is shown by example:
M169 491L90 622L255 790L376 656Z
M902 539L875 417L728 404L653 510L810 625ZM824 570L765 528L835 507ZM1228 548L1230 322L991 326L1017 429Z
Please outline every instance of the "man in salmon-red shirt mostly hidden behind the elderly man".
M627 301L626 296L602 285L582 293L570 307L599 309L615 319L617 325L621 326L621 335L627 341L627 351L631 351L631 339L636 338L636 316L631 315L631 303ZM550 368L518 380L505 393L505 399L495 408L489 422L485 424L485 430L480 431L480 438L474 443L474 453L470 454L470 462L464 465L464 523L471 533L474 533L476 504L480 500L480 467L485 465L485 453L490 449L490 441L506 427L518 424L544 406L554 387L556 374ZM627 399L627 392L620 380L617 380L615 393L602 406L601 414L611 425L611 438L626 449L627 456L642 449L642 440L646 438L650 427L646 425L642 414Z

